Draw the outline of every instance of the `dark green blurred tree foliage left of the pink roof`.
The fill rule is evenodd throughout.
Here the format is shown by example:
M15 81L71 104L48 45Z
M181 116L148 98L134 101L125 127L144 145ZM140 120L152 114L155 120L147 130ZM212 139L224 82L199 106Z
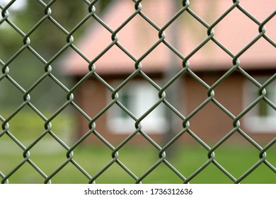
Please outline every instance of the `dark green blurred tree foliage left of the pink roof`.
M63 26L63 28L70 32L74 28L81 18L88 13L84 11L86 4L83 1L55 1L50 9L52 13L50 17L45 18L45 5L42 1L28 1L28 4L22 10L8 8L8 20L13 23L19 30L13 28L12 25L4 21L0 24L0 69L4 67L4 64L8 66L8 75L18 83L14 85L7 78L1 78L0 81L0 108L18 106L18 98L21 98L23 102L23 95L19 88L21 86L25 91L45 74L45 63L52 59L52 57L62 49L67 43L67 34L64 33L58 25L54 25L54 21ZM43 19L44 18L44 19ZM37 26L38 25L38 26ZM74 37L77 39L83 32L84 28L78 30ZM20 32L21 33L20 33ZM21 51L20 54L15 54L24 45L24 35L28 35L30 39L30 47L39 54L40 57L35 56L28 47ZM60 74L60 65L62 57L59 57L56 62L51 64L52 74L59 78L60 81L68 86L66 78ZM11 62L8 60L12 60ZM2 74L0 72L0 76ZM47 80L45 80L47 81ZM44 81L44 82L45 82ZM47 101L52 93L55 93L56 101L60 100L64 96L64 92L59 91L57 84L52 83L40 83L39 88L36 88L35 94L31 93L31 96L44 95L44 100ZM10 93L10 90L13 90ZM35 97L33 97L35 98ZM48 107L49 103L43 103L44 107Z

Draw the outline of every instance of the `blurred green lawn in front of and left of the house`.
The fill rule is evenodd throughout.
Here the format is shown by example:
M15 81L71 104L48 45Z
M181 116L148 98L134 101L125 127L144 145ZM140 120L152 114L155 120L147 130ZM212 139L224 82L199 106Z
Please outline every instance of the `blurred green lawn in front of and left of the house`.
M47 114L45 114L47 115ZM72 145L72 127L74 121L64 113L54 118L52 130L67 145ZM4 115L3 115L4 117ZM50 115L48 115L50 117ZM42 132L44 132L44 121L32 111L21 111L8 122L9 131L16 136L25 146ZM176 145L173 154L166 158L173 168L178 170L183 177L190 177L207 161L207 150L199 144ZM222 144L214 151L215 160L227 170L233 177L238 179L246 173L255 163L259 161L259 151L251 145ZM118 151L118 160L128 168L136 177L142 177L156 162L159 161L159 151L150 144L125 145ZM266 152L266 159L276 167L276 145L274 144ZM42 170L45 175L50 176L61 165L67 161L67 150L57 143L49 134L43 137L38 144L30 149L30 160ZM74 149L73 160L87 175L94 177L102 170L112 158L112 151L103 145L82 145ZM0 171L8 175L23 161L23 150L6 134L0 136ZM0 180L1 179L0 173ZM89 177L89 176L88 176ZM51 178L52 183L88 183L89 179L69 162L57 174ZM45 178L38 173L30 163L25 162L10 177L9 183L43 183ZM144 179L143 183L183 183L176 173L161 162ZM96 183L135 183L134 178L128 174L116 161L110 165L101 175L96 178ZM200 173L192 177L190 183L233 183L222 170L216 165L209 163ZM241 183L276 183L276 173L264 163L253 170Z

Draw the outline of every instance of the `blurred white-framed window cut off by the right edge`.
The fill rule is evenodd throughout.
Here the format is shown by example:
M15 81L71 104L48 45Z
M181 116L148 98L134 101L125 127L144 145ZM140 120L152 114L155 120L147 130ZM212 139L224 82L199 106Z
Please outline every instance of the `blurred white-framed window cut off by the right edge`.
M263 84L268 78L255 78L260 84ZM246 82L245 90L245 107L253 103L259 97L259 88L251 82ZM276 81L272 81L265 87L266 98L276 105ZM276 110L271 107L265 100L253 107L244 117L246 127L251 132L275 132L276 133Z

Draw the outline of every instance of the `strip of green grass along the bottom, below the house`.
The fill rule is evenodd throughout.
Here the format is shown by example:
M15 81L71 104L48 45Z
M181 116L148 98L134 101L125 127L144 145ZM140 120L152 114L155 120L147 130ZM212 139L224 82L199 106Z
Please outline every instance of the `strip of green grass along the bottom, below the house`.
M31 153L30 159L46 174L51 175L59 168L66 158L66 151L50 153ZM268 161L275 166L275 148L268 152ZM22 151L21 151L22 153ZM224 146L216 151L216 160L234 177L238 178L243 173L258 162L258 152L253 148L241 146ZM274 155L274 156L273 156ZM149 170L154 163L159 160L159 153L149 146L127 146L119 151L119 160L127 166L132 173L141 177L146 170ZM0 154L0 170L7 175L18 163L23 160L20 154ZM74 151L74 161L81 165L91 176L96 175L111 158L111 151L102 146L84 146ZM179 147L174 156L168 161L180 171L185 177L189 177L195 170L203 165L207 158L204 148L197 146ZM21 166L11 177L10 183L42 183L44 178L28 163ZM88 178L72 163L68 163L51 179L52 183L87 183ZM135 180L123 170L120 165L113 163L105 172L96 179L97 183L134 183ZM149 175L143 183L182 183L182 180L168 168L165 163L161 163ZM190 183L233 183L229 177L224 175L214 164L209 164L207 168L196 175ZM276 183L276 174L266 165L261 164L241 183Z

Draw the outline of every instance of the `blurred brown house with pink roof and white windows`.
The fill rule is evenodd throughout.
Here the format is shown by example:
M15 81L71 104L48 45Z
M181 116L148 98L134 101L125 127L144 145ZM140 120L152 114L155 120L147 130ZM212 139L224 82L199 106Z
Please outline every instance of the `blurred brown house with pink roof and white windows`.
M113 92L95 76L100 76L116 89L130 74L134 73L135 60L139 60L141 64L139 66L142 66L141 71L162 88L168 82L168 72L177 74L183 68L183 60L164 42L147 54L147 51L159 42L159 30L156 27L162 28L176 13L176 5L173 5L173 2L171 0L142 1L142 12L154 24L148 23L137 14L126 25L119 28L135 12L135 7L134 2L130 0L114 1L100 18L110 30L116 32L117 44L120 46L110 47L113 43L112 33L98 21L91 19L93 22L83 38L74 44L94 63L93 69L96 75L91 75L74 91L74 101L91 118L97 117L98 113L113 100ZM197 0L190 1L190 10L211 25L232 5L232 1ZM262 23L273 12L275 13L276 1L267 0L263 4L241 1L240 6ZM275 107L275 22L276 16L273 16L268 23L265 23L265 36L270 38L270 42L265 37L260 37L248 50L239 54L248 43L258 37L259 25L238 8L234 8L213 28L214 38L229 52L225 52L222 47L209 40L195 54L192 54L188 59L189 69L192 72L185 72L176 81L177 86L173 87L173 89L176 88L173 94L177 96L178 101L172 105L176 105L178 111L187 117L204 103L208 98L206 86L213 86L234 66L234 58L230 55L232 53L239 54L240 69L236 69L214 87L214 99L237 117L259 97L259 88L250 78L253 77L255 81L263 84L274 75L274 80L265 87L265 90L267 98ZM192 51L208 37L205 25L187 11L164 32L166 42L173 45L183 57L190 56L190 53L193 53ZM127 52L123 52L122 49ZM103 51L106 52L102 54ZM146 56L144 56L145 53ZM62 62L64 74L74 76L76 82L81 81L91 67L88 59L84 59L80 54L71 50ZM192 73L202 81L197 81L191 75ZM203 81L205 83L202 83ZM170 88L171 86L165 92L169 92ZM159 101L159 91L149 81L146 81L143 75L137 74L118 91L118 97L120 103L125 105L135 117L140 117ZM170 102L169 96L166 99ZM155 141L161 140L163 134L168 131L167 113L168 107L161 103L156 110L142 120L142 130ZM79 119L78 133L79 136L83 136L88 132L88 120L80 113L76 115ZM173 134L177 134L183 129L182 120L178 116L173 117L173 120L176 120ZM256 104L239 121L243 132L253 139L270 141L276 136L276 110L264 100ZM134 120L116 104L97 117L95 123L96 131L108 141L122 141L135 131ZM190 117L189 128L203 141L216 142L234 128L233 123L234 120L229 115L210 101ZM96 137L92 134L88 139L93 141ZM185 141L185 139L192 141L187 133L183 134L179 141ZM242 141L244 138L235 133L229 141L233 139ZM141 135L133 138L133 141L143 140Z

